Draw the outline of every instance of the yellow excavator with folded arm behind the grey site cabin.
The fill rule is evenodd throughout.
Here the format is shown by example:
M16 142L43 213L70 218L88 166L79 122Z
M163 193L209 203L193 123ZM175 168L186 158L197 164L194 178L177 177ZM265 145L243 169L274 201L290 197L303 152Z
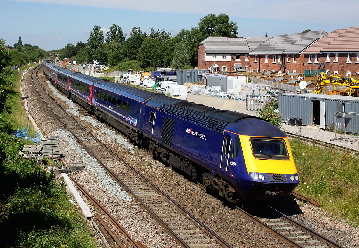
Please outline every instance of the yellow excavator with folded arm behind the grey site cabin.
M326 75L325 72L321 72L319 75L319 78L317 80L317 84L314 88L313 93L320 94L326 84L339 84L339 85L345 85L348 88L346 89L338 89L338 90L332 90L329 92L330 95L334 95L336 93L339 93L339 95L347 95L350 97L359 97L359 81L352 79L352 78L344 78L341 76L335 76L335 75Z

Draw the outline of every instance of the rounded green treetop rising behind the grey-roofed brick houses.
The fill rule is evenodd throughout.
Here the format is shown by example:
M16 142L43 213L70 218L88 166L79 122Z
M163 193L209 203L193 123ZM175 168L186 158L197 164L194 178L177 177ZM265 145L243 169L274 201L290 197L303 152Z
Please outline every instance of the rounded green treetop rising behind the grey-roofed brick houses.
M229 22L227 14L208 14L200 19L198 27L202 35L209 36L237 37L238 25L235 22Z

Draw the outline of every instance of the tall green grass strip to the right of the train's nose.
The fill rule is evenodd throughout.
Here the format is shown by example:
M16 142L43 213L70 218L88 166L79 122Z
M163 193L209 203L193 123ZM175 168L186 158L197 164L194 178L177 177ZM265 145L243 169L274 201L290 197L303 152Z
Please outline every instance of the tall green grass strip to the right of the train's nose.
M300 178L296 191L359 226L359 157L290 141Z

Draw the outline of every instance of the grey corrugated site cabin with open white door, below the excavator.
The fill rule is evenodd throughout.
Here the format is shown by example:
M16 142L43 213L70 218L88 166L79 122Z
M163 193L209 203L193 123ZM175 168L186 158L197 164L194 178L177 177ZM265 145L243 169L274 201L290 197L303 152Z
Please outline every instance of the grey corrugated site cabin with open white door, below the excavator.
M279 94L278 111L284 121L301 118L305 126L359 134L359 97L314 93Z

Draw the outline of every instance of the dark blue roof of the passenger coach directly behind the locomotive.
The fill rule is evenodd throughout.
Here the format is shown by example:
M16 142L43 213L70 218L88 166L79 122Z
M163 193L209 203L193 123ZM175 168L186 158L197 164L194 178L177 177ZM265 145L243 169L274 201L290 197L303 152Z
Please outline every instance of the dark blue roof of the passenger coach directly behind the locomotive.
M124 95L143 103L148 102L149 99L156 96L156 93L150 92L148 90L138 89L129 85L113 83L111 81L101 81L96 83L94 86L108 90L115 94Z

